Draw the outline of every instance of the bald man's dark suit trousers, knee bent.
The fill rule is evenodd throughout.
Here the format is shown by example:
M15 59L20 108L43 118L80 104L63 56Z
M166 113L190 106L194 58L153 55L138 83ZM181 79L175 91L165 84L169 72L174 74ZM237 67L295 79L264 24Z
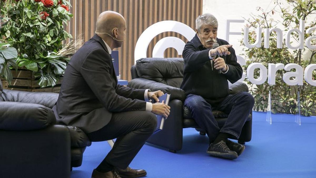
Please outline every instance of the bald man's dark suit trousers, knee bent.
M117 138L99 167L110 164L126 169L154 132L156 125L156 116L148 111L113 113L111 121L106 126L87 134L92 142Z

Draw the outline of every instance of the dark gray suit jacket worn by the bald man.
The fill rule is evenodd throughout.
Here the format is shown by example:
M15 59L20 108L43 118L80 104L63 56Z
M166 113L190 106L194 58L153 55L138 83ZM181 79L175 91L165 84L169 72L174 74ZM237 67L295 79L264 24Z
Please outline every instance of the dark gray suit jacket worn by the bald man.
M90 133L108 124L112 112L146 110L144 92L118 85L106 45L94 35L67 65L53 109L59 122Z

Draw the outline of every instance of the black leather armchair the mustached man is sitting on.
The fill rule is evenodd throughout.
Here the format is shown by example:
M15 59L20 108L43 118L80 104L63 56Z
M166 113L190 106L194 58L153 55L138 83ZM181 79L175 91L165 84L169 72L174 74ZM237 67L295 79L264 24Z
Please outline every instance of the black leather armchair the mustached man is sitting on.
M165 121L164 129L152 135L147 140L171 152L182 149L183 128L196 128L201 135L205 131L200 129L191 116L188 108L183 107L185 92L180 89L183 80L184 61L182 58L143 58L136 61L136 65L131 67L132 80L128 83L129 87L147 89L151 91L161 90L171 94L169 106L170 115ZM203 81L200 81L203 82ZM246 91L246 84L236 82L229 85L231 93ZM220 127L225 123L228 114L222 111L213 111L213 114ZM245 144L251 140L252 134L252 113L242 128L239 143Z

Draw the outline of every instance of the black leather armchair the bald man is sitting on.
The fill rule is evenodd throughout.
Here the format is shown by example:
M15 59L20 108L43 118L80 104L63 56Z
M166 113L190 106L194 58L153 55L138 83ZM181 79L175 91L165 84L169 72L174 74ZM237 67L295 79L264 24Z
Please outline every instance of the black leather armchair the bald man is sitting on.
M69 178L91 145L77 127L56 123L57 93L3 90L0 81L0 177Z

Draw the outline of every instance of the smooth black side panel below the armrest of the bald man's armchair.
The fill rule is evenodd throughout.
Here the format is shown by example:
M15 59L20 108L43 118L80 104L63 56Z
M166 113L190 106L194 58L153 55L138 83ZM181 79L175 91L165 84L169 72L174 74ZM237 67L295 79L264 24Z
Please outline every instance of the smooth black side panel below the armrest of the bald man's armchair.
M64 125L0 130L0 177L70 178L70 133Z

